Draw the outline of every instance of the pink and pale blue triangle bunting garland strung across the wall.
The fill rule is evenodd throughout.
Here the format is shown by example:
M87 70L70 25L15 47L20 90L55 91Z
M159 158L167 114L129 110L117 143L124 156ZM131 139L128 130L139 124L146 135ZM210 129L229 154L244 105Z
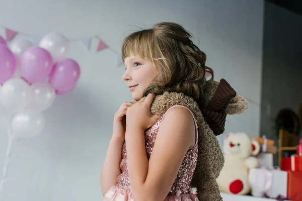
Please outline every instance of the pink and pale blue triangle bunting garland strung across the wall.
M39 42L42 38L40 36L34 36L34 35L30 35L30 34L23 33L23 32L18 32L18 31L10 29L8 27L5 27L5 26L0 25L0 27L5 30L5 39L8 42L13 40L17 35L23 35L23 36L31 38L31 41L32 41L33 45L39 46ZM69 42L81 41L82 44L85 46L85 48L88 51L90 51L91 50L92 39L97 39L98 40L98 46L97 46L97 49L95 50L96 52L101 52L105 49L110 49L112 52L114 52L116 54L116 66L119 67L123 64L123 61L121 59L121 55L118 52L116 52L114 49L109 47L109 45L104 40L102 40L98 35L68 39L68 41Z

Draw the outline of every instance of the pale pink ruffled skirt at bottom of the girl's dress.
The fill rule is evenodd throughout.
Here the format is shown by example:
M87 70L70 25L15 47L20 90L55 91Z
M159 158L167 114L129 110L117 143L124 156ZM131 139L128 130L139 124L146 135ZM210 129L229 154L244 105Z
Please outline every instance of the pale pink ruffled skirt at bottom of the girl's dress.
M135 201L131 190L112 186L104 196L103 201ZM164 201L199 201L194 194L179 194L167 196Z

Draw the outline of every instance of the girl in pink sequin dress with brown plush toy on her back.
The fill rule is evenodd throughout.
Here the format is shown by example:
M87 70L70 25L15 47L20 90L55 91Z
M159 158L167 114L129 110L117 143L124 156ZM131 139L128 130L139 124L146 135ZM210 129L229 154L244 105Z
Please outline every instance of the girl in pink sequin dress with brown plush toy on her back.
M122 104L114 116L100 177L104 200L222 200L215 179L223 156L209 126L216 119L205 121L220 84L205 84L212 70L190 38L178 24L159 23L123 41L122 78L136 103ZM229 104L236 93L224 88ZM215 128L223 130L223 120Z

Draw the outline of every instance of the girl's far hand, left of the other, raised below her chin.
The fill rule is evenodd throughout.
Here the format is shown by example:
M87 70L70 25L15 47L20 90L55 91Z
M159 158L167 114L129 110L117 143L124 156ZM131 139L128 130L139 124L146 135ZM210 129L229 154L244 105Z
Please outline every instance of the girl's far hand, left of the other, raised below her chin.
M126 114L127 109L133 104L131 102L125 102L121 105L118 111L114 115L113 119L113 137L125 141L125 132L126 132Z

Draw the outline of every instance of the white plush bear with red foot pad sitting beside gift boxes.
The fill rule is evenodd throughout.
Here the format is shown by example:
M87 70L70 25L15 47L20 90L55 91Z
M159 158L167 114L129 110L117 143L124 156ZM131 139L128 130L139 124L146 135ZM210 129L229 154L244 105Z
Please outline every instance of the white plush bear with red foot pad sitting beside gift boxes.
M248 194L249 168L259 166L258 159L251 155L260 152L260 145L251 141L246 133L229 133L223 141L224 165L217 178L219 190L232 194Z

